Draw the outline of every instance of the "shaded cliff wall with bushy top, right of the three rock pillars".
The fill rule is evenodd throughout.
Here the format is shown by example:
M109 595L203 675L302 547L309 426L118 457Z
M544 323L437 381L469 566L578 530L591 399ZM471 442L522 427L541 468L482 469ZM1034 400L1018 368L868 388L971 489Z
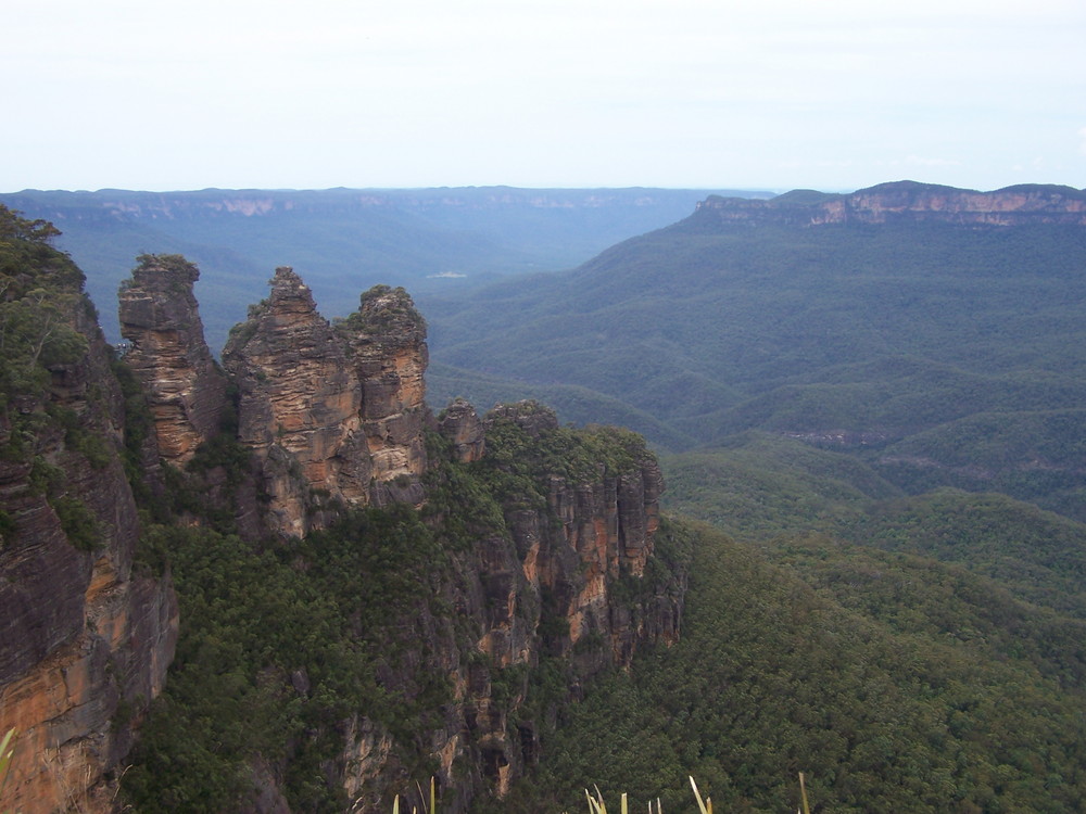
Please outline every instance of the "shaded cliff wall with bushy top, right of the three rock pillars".
M535 403L480 419L460 400L437 423L422 511L451 558L438 594L452 612L417 613L405 661L452 687L420 740L442 810L460 812L530 773L585 681L678 637L686 573L657 555L662 480L640 436L560 428ZM344 787L358 811L380 812L403 785L402 745L364 714L349 732Z

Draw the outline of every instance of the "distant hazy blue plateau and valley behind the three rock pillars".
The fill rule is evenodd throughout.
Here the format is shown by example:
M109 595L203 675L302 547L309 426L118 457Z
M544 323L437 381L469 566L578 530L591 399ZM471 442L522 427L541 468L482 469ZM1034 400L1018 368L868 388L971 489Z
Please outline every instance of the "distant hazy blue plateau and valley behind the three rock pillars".
M298 268L326 314L381 282L417 295L503 276L572 268L615 243L672 224L712 190L435 189L67 192L24 190L0 203L54 224L96 303L114 302L140 254L182 254L217 353L275 268ZM769 198L770 192L717 190ZM112 308L103 329L119 339Z

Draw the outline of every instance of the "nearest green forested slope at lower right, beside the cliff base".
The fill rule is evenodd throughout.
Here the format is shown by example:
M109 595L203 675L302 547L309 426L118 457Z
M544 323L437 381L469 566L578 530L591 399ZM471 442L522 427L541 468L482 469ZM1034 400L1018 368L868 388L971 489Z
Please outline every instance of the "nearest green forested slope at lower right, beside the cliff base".
M659 797L681 811L692 773L720 811L794 811L788 778L803 767L835 812L1086 803L1083 697L1057 675L930 620L894 629L748 546L707 529L696 537L682 639L565 711L544 742L536 800L569 810L576 789L598 784L607 797L629 792L634 810Z

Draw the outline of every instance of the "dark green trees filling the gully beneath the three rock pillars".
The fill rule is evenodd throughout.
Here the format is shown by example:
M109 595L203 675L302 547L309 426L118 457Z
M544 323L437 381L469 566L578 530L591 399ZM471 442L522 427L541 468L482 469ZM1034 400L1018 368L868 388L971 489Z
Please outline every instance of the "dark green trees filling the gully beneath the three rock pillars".
M201 529L156 526L146 544L168 562L186 625L124 777L138 811L229 810L257 755L288 766L293 810L342 809L320 766L342 751L344 722L366 716L415 745L450 699L411 623L440 601L443 568L409 509L351 514L264 551ZM428 771L414 751L400 759Z

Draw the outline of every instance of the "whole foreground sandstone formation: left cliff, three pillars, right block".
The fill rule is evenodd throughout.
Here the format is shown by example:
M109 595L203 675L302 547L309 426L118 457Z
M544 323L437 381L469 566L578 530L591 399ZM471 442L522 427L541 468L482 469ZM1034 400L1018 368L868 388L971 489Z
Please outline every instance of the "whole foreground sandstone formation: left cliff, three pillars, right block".
M231 333L222 374L202 340L195 276L181 258L144 257L122 292L128 359L154 427L147 443L128 444L127 465L175 465L162 474L178 499L155 506L157 522L206 523L295 551L291 573L365 539L375 569L392 558L425 574L421 590L400 590L403 602L376 611L369 565L343 575L336 602L350 645L372 657L358 662L372 675L359 678L378 691L285 739L296 737L298 750L332 739L320 774L352 811L387 811L390 789L416 776L419 760L435 767L451 814L505 794L538 760L539 716L553 720L585 678L678 634L684 576L646 568L662 488L655 459L632 434L559 428L534 403L480 419L458 400L434 420L426 326L402 289L371 289L332 325L298 275L279 268L269 297ZM15 810L113 805L111 771L163 687L178 633L168 578L132 564L139 522L118 451L125 405L139 393L122 398L92 309L72 319L77 336L45 371L48 385L0 404L0 726L22 733L0 805ZM238 394L232 438L227 381ZM428 446L434 429L446 443L431 436ZM408 506L344 517L392 501ZM240 520L257 514L278 539ZM311 536L311 552L283 539L340 518L328 537ZM380 536L351 536L367 524ZM174 560L178 573L182 562ZM531 671L544 660L561 679L540 690ZM315 699L328 687L310 678L319 664L260 666L272 695L281 682L321 709ZM408 715L407 728L377 708L384 703ZM293 753L236 758L250 760L260 789L239 810L289 811Z

